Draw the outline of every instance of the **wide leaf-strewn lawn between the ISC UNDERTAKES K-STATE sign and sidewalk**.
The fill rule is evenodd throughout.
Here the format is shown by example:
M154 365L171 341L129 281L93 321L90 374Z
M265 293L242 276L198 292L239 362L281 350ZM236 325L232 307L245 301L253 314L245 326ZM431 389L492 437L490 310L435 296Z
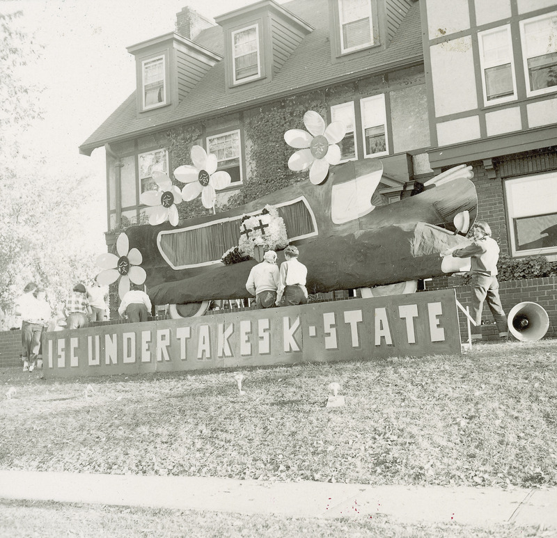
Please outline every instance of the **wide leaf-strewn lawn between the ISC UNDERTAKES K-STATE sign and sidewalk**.
M464 356L40 379L0 370L0 468L557 485L557 341ZM327 409L338 381L346 405ZM86 387L91 384L93 390Z

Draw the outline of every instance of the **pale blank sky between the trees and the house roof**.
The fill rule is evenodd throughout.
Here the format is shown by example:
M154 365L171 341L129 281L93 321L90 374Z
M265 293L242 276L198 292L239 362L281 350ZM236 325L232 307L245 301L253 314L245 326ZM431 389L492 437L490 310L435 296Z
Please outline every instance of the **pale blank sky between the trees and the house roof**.
M255 0L0 0L0 13L21 10L22 24L44 47L23 72L40 86L44 120L22 138L45 155L49 169L90 173L106 191L104 149L91 157L79 145L135 86L134 56L126 47L175 29L184 6L215 17ZM282 3L279 0L279 3ZM106 209L95 226L106 230Z

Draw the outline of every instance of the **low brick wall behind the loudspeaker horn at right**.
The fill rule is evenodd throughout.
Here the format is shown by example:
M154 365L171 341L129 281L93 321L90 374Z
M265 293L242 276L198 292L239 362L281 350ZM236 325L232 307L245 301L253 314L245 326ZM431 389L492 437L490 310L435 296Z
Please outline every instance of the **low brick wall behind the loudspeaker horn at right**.
M472 288L470 285L458 285L460 278L449 277L448 286L434 285L432 282L426 283L425 291L440 290L444 287L454 287L457 299L462 306L472 306ZM452 285L450 285L452 284ZM530 278L525 280L509 280L499 283L499 294L503 310L508 314L511 308L524 301L538 303L549 315L549 330L545 338L557 337L557 277L549 278ZM459 311L460 333L462 340L467 338L466 317ZM493 321L489 308L484 305L482 319L488 322ZM495 325L482 326L483 338L485 340L497 340L499 333Z

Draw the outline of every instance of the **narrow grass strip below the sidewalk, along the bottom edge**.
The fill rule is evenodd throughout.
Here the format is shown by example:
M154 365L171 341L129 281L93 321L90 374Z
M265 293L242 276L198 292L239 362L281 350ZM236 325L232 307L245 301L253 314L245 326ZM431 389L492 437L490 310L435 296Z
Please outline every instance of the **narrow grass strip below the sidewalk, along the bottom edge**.
M493 525L476 528L445 524L406 525L386 519L298 519L284 516L183 512L0 500L0 537L10 538L511 538L554 537L543 527Z

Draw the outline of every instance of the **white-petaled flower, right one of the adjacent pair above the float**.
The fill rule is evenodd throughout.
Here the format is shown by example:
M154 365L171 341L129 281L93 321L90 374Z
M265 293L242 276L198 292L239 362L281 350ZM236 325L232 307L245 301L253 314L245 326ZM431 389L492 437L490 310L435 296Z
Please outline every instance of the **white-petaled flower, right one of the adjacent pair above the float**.
M189 202L201 193L201 202L204 207L210 209L217 201L217 193L230 185L232 181L228 172L217 172L217 155L207 152L201 145L191 148L191 161L194 166L185 164L178 166L174 171L174 177L187 185L182 189L182 198Z

